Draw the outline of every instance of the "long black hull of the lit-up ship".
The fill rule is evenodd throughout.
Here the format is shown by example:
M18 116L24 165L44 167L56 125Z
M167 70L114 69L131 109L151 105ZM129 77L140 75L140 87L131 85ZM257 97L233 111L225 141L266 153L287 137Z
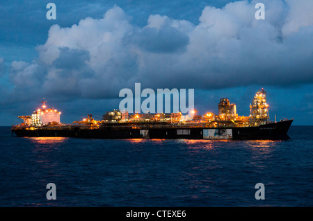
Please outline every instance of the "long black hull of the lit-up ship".
M16 136L44 137L61 136L87 139L231 139L231 140L285 140L293 120L268 123L258 127L150 127L133 129L131 127L100 127L99 129L38 128L36 130L12 129ZM214 134L212 134L214 133Z

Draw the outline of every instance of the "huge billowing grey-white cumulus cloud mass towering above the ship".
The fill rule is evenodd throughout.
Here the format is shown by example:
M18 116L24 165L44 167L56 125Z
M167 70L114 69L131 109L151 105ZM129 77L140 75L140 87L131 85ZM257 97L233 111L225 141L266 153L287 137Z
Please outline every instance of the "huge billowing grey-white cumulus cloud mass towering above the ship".
M116 98L120 89L216 89L313 82L312 1L257 1L207 6L198 24L150 15L143 27L115 6L101 19L51 26L38 59L13 62L12 93ZM1 60L0 60L1 64Z

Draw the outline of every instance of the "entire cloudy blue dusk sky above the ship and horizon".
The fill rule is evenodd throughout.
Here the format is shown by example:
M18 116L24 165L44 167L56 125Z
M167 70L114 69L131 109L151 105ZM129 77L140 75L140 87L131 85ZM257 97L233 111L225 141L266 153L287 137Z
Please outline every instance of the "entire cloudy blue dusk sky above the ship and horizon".
M1 1L0 125L42 98L63 123L101 119L136 82L194 89L202 114L229 98L240 116L264 88L271 120L313 125L312 10L312 0Z

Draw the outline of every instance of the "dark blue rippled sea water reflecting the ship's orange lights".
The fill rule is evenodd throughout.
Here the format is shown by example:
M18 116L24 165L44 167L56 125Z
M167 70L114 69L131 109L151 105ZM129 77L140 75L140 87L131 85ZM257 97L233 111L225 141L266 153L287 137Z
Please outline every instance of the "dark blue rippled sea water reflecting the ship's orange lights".
M313 206L313 127L288 141L11 137L0 206ZM56 184L56 200L46 186ZM255 199L255 184L265 200Z

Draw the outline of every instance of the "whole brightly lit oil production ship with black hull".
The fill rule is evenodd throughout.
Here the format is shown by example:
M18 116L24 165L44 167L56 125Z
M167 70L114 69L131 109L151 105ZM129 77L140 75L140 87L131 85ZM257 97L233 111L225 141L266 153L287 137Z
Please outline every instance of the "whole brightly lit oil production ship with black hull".
M92 114L82 121L60 123L61 112L42 108L31 116L19 116L24 123L12 126L12 136L63 136L90 139L289 139L293 119L270 121L266 91L260 89L250 104L250 116L238 116L236 105L221 98L218 114L198 115L195 110L183 116L171 114L129 114L114 109L101 121Z

